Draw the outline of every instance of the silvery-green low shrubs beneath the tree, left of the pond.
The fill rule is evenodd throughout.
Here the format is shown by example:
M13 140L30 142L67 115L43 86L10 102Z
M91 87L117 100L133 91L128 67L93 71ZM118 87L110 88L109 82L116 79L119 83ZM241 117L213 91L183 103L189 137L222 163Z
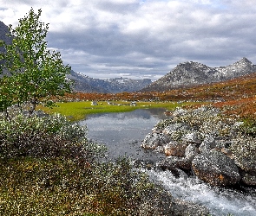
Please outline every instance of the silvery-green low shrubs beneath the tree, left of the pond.
M68 157L92 160L106 149L87 140L87 128L61 115L0 120L0 156Z

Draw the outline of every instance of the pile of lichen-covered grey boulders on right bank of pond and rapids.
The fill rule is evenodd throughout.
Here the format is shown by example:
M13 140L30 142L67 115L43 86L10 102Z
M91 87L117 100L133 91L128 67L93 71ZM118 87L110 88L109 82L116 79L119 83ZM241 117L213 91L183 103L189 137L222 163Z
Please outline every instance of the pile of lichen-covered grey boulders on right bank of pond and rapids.
M213 187L256 187L256 138L246 134L243 125L213 106L177 108L141 143L144 149L166 155L159 162L149 162L147 168L169 170L176 177L186 172ZM202 207L185 206L180 206L183 213ZM207 214L207 209L200 213Z

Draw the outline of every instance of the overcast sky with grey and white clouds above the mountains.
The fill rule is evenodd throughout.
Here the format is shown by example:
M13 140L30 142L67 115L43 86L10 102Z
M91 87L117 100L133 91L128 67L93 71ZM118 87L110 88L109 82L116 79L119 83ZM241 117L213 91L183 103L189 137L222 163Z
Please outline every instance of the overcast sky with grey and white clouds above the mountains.
M42 9L48 47L93 78L159 79L177 64L256 64L256 0L0 0L0 21Z

